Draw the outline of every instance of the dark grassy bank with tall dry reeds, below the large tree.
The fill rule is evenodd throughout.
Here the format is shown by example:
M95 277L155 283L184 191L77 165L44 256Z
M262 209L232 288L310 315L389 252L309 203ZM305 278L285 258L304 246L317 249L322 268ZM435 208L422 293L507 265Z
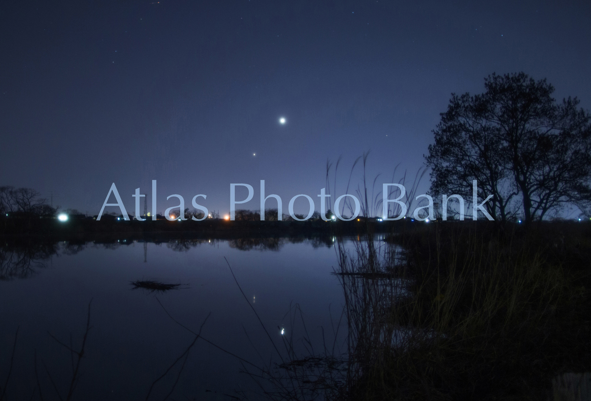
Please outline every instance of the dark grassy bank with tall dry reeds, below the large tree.
M372 238L339 248L345 398L545 399L554 374L585 369L581 276L540 235L476 228L414 232L406 260Z

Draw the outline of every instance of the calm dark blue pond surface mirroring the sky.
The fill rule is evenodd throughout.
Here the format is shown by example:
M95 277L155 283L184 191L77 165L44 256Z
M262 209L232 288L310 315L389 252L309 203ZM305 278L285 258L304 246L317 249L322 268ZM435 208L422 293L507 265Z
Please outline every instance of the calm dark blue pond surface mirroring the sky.
M193 331L199 330L210 313L203 337L256 364L269 364L272 346L249 303L278 346L282 347L281 329L284 335L291 334L286 313L296 303L313 344L322 347L322 328L327 341L334 338L343 290L331 274L337 257L330 238L262 244L251 240L128 242L54 245L57 253L37 260L30 274L21 274L24 278L6 273L7 263L14 263L19 256L4 251L4 280L0 281L2 383L18 328L8 399L29 399L35 391L35 352L44 399L57 399L50 377L64 397L72 378L72 360L70 351L51 335L65 345L70 344L72 335L73 348L79 349L91 299L92 329L73 399L145 399L152 381L194 339L167 316L158 300ZM184 288L165 293L132 290L130 282L134 280L182 283ZM301 323L296 326L301 331ZM163 399L177 377L171 399L228 399L222 394L254 386L251 377L240 373L242 366L235 357L199 339L180 376L178 367L180 363L158 381L150 399Z

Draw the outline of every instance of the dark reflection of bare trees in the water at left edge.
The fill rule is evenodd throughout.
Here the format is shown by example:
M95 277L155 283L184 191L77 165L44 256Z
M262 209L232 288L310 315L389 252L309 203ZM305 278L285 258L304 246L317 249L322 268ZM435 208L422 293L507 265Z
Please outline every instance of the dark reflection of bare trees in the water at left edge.
M26 279L46 267L45 260L57 253L57 244L0 248L0 280Z

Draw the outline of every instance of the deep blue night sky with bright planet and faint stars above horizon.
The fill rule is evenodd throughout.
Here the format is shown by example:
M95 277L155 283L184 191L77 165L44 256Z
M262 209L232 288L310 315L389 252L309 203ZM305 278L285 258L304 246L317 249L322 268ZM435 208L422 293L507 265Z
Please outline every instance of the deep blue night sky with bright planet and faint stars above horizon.
M2 2L0 185L92 215L115 182L133 214L156 179L159 211L203 193L224 214L264 179L318 210L327 158L337 196L363 151L371 180L414 175L450 93L493 72L591 108L590 22L589 2Z

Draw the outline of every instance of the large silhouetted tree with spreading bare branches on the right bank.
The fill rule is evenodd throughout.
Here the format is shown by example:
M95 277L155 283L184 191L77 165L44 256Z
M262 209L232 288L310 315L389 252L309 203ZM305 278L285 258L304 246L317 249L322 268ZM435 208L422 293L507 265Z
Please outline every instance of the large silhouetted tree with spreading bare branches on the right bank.
M486 92L452 94L426 156L431 194L466 193L478 180L487 209L506 221L543 219L591 200L591 126L579 101L551 97L552 85L525 73L485 79ZM471 200L471 197L468 199ZM521 204L519 206L519 204ZM520 210L521 209L521 210Z

